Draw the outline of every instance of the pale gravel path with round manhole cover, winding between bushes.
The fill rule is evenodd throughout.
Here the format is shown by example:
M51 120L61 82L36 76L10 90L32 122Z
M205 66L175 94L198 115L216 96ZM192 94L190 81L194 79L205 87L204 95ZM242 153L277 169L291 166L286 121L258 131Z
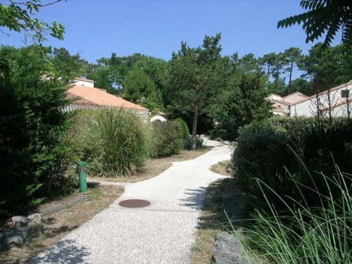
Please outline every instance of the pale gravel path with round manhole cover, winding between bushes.
M30 263L189 263L206 187L222 177L208 168L229 158L229 146L215 146L198 158L173 163L157 177L128 184L109 208ZM151 205L122 208L118 203L125 199Z

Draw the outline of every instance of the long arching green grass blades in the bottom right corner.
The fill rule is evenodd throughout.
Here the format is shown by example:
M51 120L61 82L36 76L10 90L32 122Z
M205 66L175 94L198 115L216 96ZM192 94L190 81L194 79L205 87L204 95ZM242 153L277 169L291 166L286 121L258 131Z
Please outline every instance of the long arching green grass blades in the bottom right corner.
M304 201L315 192L327 205L318 201L318 206L310 207L296 197L280 196L268 190L265 182L258 182L265 191L263 196L277 195L277 199L296 202L296 208L287 204L284 215L266 201L270 207L268 214L256 212L251 224L244 230L246 236L240 237L248 256L256 249L256 255L269 259L270 263L351 263L352 245L352 197L351 175L342 173L336 166L334 175L314 173L324 182L323 189L337 189L325 196L316 186L301 186L292 180L291 184ZM271 194L270 194L271 193ZM291 203L291 202L290 202ZM253 256L253 255L252 255Z

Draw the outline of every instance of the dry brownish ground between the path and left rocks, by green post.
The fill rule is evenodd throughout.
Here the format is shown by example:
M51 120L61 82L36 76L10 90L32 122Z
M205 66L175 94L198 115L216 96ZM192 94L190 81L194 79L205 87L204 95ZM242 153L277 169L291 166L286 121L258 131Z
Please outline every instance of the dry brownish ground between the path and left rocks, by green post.
M27 263L44 249L55 244L58 240L65 237L66 234L87 222L104 208L107 208L122 193L123 187L118 186L89 187L89 194L87 194L89 201L82 201L57 213L45 215L42 218L44 236L37 241L25 244L23 247L13 247L7 251L0 252L0 263ZM70 201L70 199L75 199L75 195L65 197L65 202ZM59 201L63 202L62 200ZM42 207L46 209L51 206L44 204ZM1 231L5 232L9 228L11 228L11 223L7 222L6 225L1 227Z

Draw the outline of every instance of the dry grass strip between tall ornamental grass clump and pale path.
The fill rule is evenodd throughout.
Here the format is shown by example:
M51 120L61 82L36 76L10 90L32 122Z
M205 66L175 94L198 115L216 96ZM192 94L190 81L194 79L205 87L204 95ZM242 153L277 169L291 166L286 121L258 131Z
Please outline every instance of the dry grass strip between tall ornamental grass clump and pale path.
M100 180L106 182L141 182L144 180L151 179L152 177L156 177L164 170L170 168L173 162L177 161L187 161L193 158L197 158L204 153L210 151L210 147L206 146L202 149L197 149L196 151L186 151L182 150L180 154L167 157L167 158L153 158L149 161L146 161L144 166L139 172L135 175L130 176L122 176L118 178L106 178L106 177L89 177L88 180Z

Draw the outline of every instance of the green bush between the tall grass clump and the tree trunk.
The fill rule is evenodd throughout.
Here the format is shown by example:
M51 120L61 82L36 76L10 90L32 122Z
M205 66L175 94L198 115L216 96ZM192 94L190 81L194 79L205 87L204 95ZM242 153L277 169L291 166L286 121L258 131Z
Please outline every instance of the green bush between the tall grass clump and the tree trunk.
M184 148L184 137L179 122L155 121L153 126L153 157L168 157L179 154Z

